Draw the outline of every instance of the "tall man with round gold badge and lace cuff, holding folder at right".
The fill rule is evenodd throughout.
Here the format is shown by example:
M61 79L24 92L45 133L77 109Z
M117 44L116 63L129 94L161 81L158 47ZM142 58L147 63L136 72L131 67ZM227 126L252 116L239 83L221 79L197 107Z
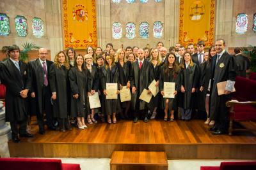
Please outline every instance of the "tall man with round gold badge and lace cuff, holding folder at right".
M215 120L214 127L210 128L212 134L223 134L228 128L228 108L226 102L231 99L230 92L234 89L236 80L236 64L234 57L225 50L224 39L215 42L216 55L212 58L212 80L210 94L211 120ZM225 94L218 95L217 83L227 81Z

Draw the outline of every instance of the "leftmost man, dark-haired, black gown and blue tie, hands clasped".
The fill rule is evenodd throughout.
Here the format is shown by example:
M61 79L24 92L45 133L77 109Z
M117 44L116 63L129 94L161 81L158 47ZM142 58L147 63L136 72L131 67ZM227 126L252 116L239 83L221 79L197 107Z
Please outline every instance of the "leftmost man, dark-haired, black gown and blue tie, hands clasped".
M9 59L1 62L0 79L6 86L6 122L10 122L12 140L20 143L20 137L33 137L26 131L28 123L27 101L31 88L31 78L27 65L19 60L20 49L17 45L9 46ZM19 129L18 129L19 124Z

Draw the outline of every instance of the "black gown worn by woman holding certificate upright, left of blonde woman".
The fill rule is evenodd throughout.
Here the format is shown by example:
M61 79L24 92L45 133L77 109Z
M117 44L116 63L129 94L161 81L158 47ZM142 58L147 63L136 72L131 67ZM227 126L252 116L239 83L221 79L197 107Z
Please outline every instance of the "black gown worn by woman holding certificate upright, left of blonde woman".
M117 83L117 88L120 89L120 81L119 81L119 71L116 65L112 66L111 69L106 69L106 67L101 67L102 78L100 79L100 83L102 85L102 89L106 89L106 83ZM105 113L107 115L112 115L112 113L120 112L120 103L118 99L106 99L104 96L104 106Z

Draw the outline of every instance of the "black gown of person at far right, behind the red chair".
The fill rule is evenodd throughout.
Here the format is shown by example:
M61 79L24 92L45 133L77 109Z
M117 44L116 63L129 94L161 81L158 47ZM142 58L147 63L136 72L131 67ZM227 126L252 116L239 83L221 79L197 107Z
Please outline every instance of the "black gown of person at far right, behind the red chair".
M246 69L249 69L249 60L247 57L239 54L234 57L236 62L236 74L237 76L246 77Z

